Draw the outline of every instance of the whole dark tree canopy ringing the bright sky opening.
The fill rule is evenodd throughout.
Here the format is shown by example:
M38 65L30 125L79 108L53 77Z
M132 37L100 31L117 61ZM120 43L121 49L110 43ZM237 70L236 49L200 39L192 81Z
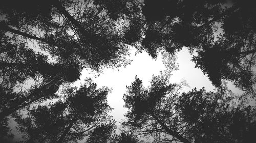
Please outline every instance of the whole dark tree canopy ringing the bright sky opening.
M22 142L142 142L139 135L156 142L255 140L255 106L225 87L232 81L246 92L245 101L255 98L253 6L242 0L1 3L0 141L13 137L11 119ZM176 69L176 53L187 48L217 91L180 93L185 83L170 84L163 74L144 88L136 77L123 97L129 109L123 125L133 133L113 136L110 90L91 80L77 89L72 83L83 69L130 64L130 47L152 58L162 54L170 69ZM48 103L52 99L57 101Z

